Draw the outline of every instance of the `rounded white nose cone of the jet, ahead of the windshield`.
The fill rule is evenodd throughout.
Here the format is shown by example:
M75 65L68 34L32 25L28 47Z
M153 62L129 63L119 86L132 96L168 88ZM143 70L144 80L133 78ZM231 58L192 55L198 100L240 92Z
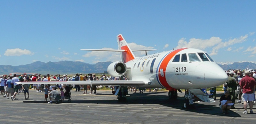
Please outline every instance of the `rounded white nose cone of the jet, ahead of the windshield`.
M200 76L202 85L205 87L215 87L224 84L228 80L226 72L216 63L202 63L196 67Z

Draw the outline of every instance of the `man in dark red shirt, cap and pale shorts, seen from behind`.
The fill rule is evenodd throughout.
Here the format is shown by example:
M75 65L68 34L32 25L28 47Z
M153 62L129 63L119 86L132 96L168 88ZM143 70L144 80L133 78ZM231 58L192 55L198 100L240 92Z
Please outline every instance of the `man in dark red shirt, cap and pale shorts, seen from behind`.
M249 101L249 106L250 106L250 113L252 114L252 107L253 107L253 103L252 101L254 100L254 93L253 91L255 90L255 86L256 86L256 82L253 78L251 78L249 76L250 72L249 71L245 71L245 77L241 79L240 81L240 93L242 94L242 98L244 101L244 112L243 114L248 114L247 112L247 102ZM242 92L243 89L243 92Z

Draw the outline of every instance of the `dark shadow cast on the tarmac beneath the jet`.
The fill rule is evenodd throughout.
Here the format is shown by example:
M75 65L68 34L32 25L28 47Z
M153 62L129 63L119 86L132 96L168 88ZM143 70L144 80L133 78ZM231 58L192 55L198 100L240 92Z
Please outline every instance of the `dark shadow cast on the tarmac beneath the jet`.
M216 105L216 103L213 105L213 103L206 103L202 102L195 102L194 106L190 109L184 109L184 97L178 96L176 100L170 100L168 96L166 95L159 95L158 93L163 92L156 92L156 93L132 93L127 96L127 100L124 102L118 102L117 99L112 100L106 100L108 98L102 98L103 100L88 100L88 98L84 98L84 100L72 100L71 103L81 103L81 104L158 104L163 105L166 107L172 107L188 112L195 112L200 114L208 114L208 115L219 115L219 116L229 116L229 117L241 117L236 112L229 110L228 114L222 114L222 111L219 107L219 105ZM111 95L111 93L105 95ZM104 95L104 94L95 94L95 95ZM151 94L151 95L149 95ZM152 94L158 94L158 95L152 95ZM143 97L144 96L144 97ZM218 101L216 101L218 102ZM24 100L23 103L45 103L43 100L40 101L30 101L30 100ZM53 102L55 103L55 102ZM63 103L68 103L68 101L65 99ZM61 103L60 103L61 105ZM243 109L243 108L237 108L236 109Z

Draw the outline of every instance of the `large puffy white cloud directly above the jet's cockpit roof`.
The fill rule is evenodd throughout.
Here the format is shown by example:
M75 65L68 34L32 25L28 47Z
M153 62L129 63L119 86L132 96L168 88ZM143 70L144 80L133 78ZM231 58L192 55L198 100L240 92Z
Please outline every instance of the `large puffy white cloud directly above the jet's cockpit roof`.
M178 42L178 46L174 49L187 47L187 48L196 48L196 49L204 50L208 47L212 47L219 43L221 43L221 39L217 38L217 37L212 37L210 39L191 38L191 39L189 39L189 42L186 41L186 38L181 38Z

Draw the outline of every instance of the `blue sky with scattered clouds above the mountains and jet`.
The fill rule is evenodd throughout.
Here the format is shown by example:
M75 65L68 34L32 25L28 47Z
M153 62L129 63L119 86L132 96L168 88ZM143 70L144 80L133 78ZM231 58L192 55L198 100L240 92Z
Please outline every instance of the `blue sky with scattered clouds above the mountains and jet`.
M0 65L118 61L131 49L206 51L217 63L256 62L256 1L0 1ZM143 56L144 52L134 52Z

